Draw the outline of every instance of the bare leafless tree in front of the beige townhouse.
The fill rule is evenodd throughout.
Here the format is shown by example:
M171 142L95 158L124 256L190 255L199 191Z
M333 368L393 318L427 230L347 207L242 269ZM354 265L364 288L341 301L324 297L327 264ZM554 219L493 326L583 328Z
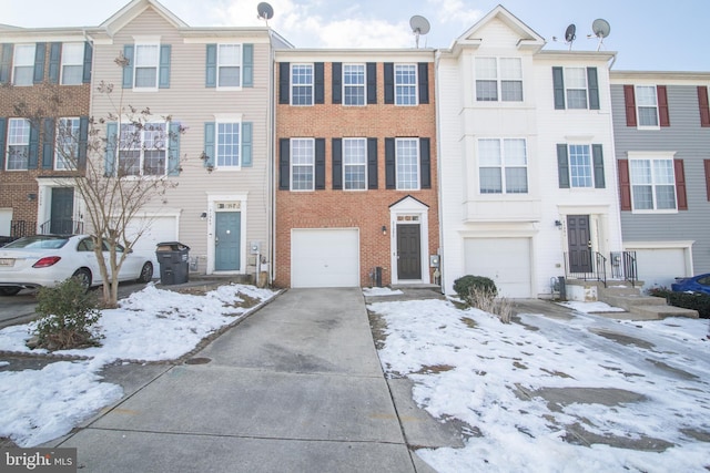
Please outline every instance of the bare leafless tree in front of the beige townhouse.
M128 64L123 56L115 62L122 68ZM113 84L103 81L92 92L109 99L113 110L106 116L63 119L57 88L44 84L48 109L20 116L33 116L32 126L48 116L54 119L57 160L69 176L58 179L69 178L83 203L103 280L103 301L112 307L118 304L121 266L152 223L146 206L166 204L168 191L178 186L171 176L182 171L175 153L186 128L172 116L154 116L149 107L124 105L122 90L116 100ZM44 132L50 130L45 126Z

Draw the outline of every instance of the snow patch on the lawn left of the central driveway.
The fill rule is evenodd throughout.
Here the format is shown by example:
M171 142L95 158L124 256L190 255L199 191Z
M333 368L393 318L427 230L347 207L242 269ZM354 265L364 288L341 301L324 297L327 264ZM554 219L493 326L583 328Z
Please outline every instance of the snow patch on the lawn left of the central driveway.
M100 332L105 338L101 347L54 352L90 360L0 372L0 436L9 436L20 446L36 446L68 433L123 395L120 385L101 381L99 372L105 364L180 358L210 333L253 310L237 307L243 297L265 301L275 295L245 285L220 286L204 296L152 285L132 294L120 300L118 309L103 310ZM0 351L31 352L24 343L33 329L34 323L28 323L0 330ZM4 364L0 360L0 367Z

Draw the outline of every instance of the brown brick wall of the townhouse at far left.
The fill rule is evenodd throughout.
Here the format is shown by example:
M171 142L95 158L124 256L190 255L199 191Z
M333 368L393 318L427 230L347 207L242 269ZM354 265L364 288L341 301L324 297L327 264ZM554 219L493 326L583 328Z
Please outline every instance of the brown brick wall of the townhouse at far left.
M49 48L47 43L45 74L49 71ZM48 82L30 86L0 85L0 117L61 117L89 115L91 85L57 85ZM7 124L6 124L7 126ZM7 130L6 130L7 132ZM40 123L40 165L38 169L0 169L0 207L12 207L12 219L28 222L36 228L38 200L28 195L38 193L38 177L67 176L67 172L41 169L43 128ZM2 150L4 153L6 150ZM41 223L40 223L41 224Z

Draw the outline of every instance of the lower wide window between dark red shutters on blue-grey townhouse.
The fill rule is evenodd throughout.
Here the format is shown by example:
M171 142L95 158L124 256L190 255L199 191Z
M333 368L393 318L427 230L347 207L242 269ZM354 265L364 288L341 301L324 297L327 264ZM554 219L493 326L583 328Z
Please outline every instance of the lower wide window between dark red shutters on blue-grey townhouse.
M676 210L672 158L629 160L633 210Z

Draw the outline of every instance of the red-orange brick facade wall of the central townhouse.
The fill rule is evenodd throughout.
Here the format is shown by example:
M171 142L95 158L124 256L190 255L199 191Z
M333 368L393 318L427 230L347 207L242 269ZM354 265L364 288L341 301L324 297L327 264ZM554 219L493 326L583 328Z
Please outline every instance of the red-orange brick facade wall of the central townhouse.
M317 62L317 59L314 61ZM276 68L278 70L278 68ZM331 63L325 63L325 104L313 106L276 105L276 142L288 137L325 138L325 191L276 191L275 285L291 285L292 228L359 228L361 286L369 286L369 271L381 266L383 285L392 282L389 206L407 195L428 205L428 254L436 254L438 239L436 113L434 64L429 64L429 103L418 106L384 104L384 70L377 63L377 104L343 106L332 104ZM278 80L276 80L278 83ZM277 97L276 102L277 102ZM428 137L432 152L432 188L394 191L385 188L385 137ZM332 138L376 137L378 188L333 191ZM278 148L276 150L278 168ZM383 225L387 235L382 234Z

